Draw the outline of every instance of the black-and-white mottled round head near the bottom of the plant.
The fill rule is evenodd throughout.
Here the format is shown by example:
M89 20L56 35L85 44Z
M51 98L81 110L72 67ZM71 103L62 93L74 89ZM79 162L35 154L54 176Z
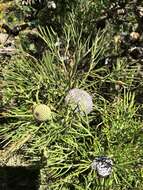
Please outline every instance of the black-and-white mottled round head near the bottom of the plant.
M96 170L100 177L108 177L112 173L113 161L105 156L97 157L93 160L91 167Z

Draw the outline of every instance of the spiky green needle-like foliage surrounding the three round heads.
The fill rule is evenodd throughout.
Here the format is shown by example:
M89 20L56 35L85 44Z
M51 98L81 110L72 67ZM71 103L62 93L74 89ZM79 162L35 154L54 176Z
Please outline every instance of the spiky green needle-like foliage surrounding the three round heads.
M18 153L31 163L40 158L41 189L141 190L141 106L133 92L140 80L138 67L127 57L112 60L112 67L103 61L117 53L110 24L104 30L95 27L96 37L88 31L92 24L85 28L89 11L96 8L98 15L109 1L79 4L83 12L72 10L61 35L52 27L39 26L46 46L41 59L20 50L2 70L2 164ZM78 14L83 15L79 25ZM66 105L72 88L92 95L94 108L89 115ZM38 122L33 116L35 104L47 105L52 119ZM113 160L108 178L99 177L91 167L98 156Z

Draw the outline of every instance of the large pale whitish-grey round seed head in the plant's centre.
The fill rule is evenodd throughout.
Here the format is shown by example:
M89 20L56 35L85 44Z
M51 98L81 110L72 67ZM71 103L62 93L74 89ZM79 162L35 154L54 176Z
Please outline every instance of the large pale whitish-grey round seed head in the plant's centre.
M71 89L65 98L66 104L70 104L75 112L81 115L89 114L93 109L92 97L84 90Z

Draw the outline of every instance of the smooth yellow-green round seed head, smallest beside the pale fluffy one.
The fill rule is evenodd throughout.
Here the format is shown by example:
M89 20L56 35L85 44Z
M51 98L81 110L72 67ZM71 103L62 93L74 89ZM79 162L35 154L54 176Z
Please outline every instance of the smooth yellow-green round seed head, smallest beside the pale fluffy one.
M52 118L51 109L45 104L39 104L34 107L33 115L38 121L47 121Z

